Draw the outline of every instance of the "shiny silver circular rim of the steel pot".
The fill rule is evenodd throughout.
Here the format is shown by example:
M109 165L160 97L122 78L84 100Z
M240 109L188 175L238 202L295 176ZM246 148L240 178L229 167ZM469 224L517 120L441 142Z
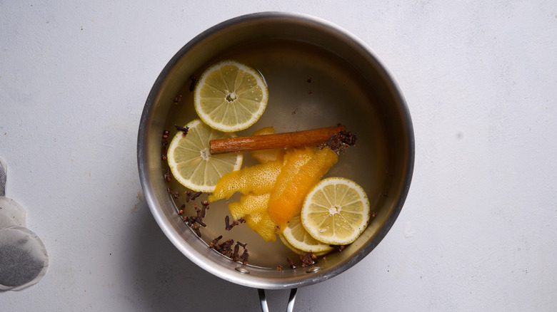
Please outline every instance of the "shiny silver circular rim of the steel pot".
M246 21L254 21L258 19L269 19L269 18L278 18L278 19L293 19L297 21L306 21L310 24L318 25L321 27L326 27L341 36L346 37L349 41L355 43L359 48L363 51L366 51L369 58L375 61L378 64L378 69L381 71L381 76L386 79L388 85L393 88L393 94L396 95L396 101L400 104L400 110L403 113L403 122L406 124L406 135L408 139L408 159L407 159L407 166L406 172L404 173L404 181L401 187L401 194L398 196L398 201L396 202L396 207L393 209L393 213L388 217L385 225L381 228L381 230L376 234L376 237L373 239L375 244L366 244L363 248L358 251L356 254L353 254L348 261L341 263L340 265L334 267L333 269L327 271L325 274L320 274L318 276L309 276L307 275L303 279L283 279L277 283L277 281L269 281L265 278L261 278L258 276L254 276L253 274L244 274L239 275L238 272L234 270L223 270L220 267L215 267L211 265L211 262L204 261L202 257L199 257L197 254L194 254L190 249L184 246L184 240L182 236L176 232L170 224L166 222L166 217L159 209L159 203L156 201L156 197L154 194L154 189L151 185L151 177L149 174L149 168L146 166L147 163L147 131L148 131L148 123L151 110L154 106L154 101L156 100L156 96L161 89L161 85L164 83L164 80L169 75L169 73L174 69L176 64L181 60L182 56L189 51L191 48L196 46L198 43L203 41L205 38L210 36L212 33L217 31L221 31L225 28L229 28L236 24L241 24ZM377 244L386 236L387 232L391 229L394 222L396 221L398 214L400 214L401 209L403 207L404 202L406 201L406 197L408 195L408 190L411 184L411 179L413 175L413 166L414 166L414 135L413 135L413 125L411 122L410 113L408 107L406 105L406 101L403 99L403 95L398 88L398 85L393 80L390 73L388 73L386 66L383 65L381 60L371 51L366 43L363 43L361 39L354 36L352 33L344 30L340 26L333 24L329 21L324 19L318 18L316 16L310 16L307 14L300 14L300 13L291 13L291 12L282 12L282 11L264 11L264 12L257 12L252 14L245 14L242 16L237 16L232 19L228 19L223 21L211 28L206 29L199 33L199 35L195 36L191 39L188 43L186 43L166 64L164 69L161 71L159 76L156 78L151 91L146 99L146 103L144 106L143 113L141 115L141 120L139 123L139 132L138 132L138 140L137 140L137 162L139 168L139 178L141 181L141 187L144 190L144 197L146 199L147 204L149 205L149 209L151 210L151 214L153 214L154 219L156 220L159 227L163 230L164 234L169 238L169 240L176 246L177 249L181 251L188 259L194 262L197 266L200 266L201 269L208 271L215 276L219 276L221 279L225 279L226 281L231 281L235 284L241 284L243 286L249 286L254 288L266 288L266 289L278 289L278 288L297 288L300 286L308 286L311 284L316 284L321 281L325 281L326 279L330 279L333 276L337 276L341 274L343 271L351 268L353 265L361 261L365 256L367 256L376 246Z

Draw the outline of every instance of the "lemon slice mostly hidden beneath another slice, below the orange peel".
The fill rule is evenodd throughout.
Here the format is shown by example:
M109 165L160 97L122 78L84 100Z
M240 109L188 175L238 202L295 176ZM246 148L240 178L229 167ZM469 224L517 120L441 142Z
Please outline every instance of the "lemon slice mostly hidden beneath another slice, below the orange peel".
M333 250L333 247L317 241L306 232L301 224L300 216L293 217L290 220L288 227L281 234L281 240L283 240L283 243L286 241L287 244L285 243L285 245L297 254L306 254L313 251L317 256L321 256L321 254Z

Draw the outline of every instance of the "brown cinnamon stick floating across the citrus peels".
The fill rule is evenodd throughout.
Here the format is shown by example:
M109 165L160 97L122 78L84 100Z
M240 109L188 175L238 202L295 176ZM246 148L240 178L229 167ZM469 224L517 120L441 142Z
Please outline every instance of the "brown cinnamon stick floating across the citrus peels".
M327 142L335 133L346 131L346 127L318 128L272 135L251 135L248 137L229 137L209 142L211 155L248 150L268 150L271 148L301 147Z

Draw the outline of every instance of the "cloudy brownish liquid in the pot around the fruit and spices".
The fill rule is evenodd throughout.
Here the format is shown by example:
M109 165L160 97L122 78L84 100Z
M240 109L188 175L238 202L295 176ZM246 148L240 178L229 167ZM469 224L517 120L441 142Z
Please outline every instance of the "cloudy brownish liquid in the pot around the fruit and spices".
M326 177L346 177L356 181L366 190L373 212L373 205L382 195L383 180L387 175L386 142L382 142L384 130L374 109L378 100L375 91L356 68L323 48L298 41L269 40L244 44L211 63L223 59L234 59L256 68L269 86L269 103L265 113L251 128L237 132L237 135L251 135L255 130L271 125L276 132L291 132L338 123L356 132L356 146L340 155L338 163ZM211 63L191 74L199 77ZM190 85L191 80L184 81L184 87L177 94L181 95L181 100L177 105L171 105L164 128L170 132L169 140L176 133L174 125L186 125L198 118ZM256 161L245 152L243 167L255 164ZM168 167L166 162L163 161L162 167ZM182 194L186 191L175 180L169 182L169 187ZM206 199L206 196L202 194L194 202L186 204L184 215L194 214L192 205L201 207L201 200ZM229 202L238 200L239 194L235 194ZM176 207L181 207L185 202L183 196L174 201ZM290 256L297 265L300 264L298 255L284 246L278 236L274 242L264 241L247 224L239 224L226 231L226 215L229 215L229 210L224 199L210 204L204 218L207 227L201 227L201 239L207 244L222 235L219 242L234 239L248 244L246 248L249 250L250 265L270 269L281 265L287 269L286 256ZM180 218L177 213L176 218ZM185 223L184 227L187 227ZM223 258L223 261L229 260Z

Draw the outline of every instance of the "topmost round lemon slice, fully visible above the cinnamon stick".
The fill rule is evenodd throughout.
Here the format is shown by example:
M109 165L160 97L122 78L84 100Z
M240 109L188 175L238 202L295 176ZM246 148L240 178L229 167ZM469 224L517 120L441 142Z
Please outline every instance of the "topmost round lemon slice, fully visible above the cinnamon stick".
M261 73L236 61L221 61L207 68L194 90L199 118L223 132L244 130L256 123L268 99Z

